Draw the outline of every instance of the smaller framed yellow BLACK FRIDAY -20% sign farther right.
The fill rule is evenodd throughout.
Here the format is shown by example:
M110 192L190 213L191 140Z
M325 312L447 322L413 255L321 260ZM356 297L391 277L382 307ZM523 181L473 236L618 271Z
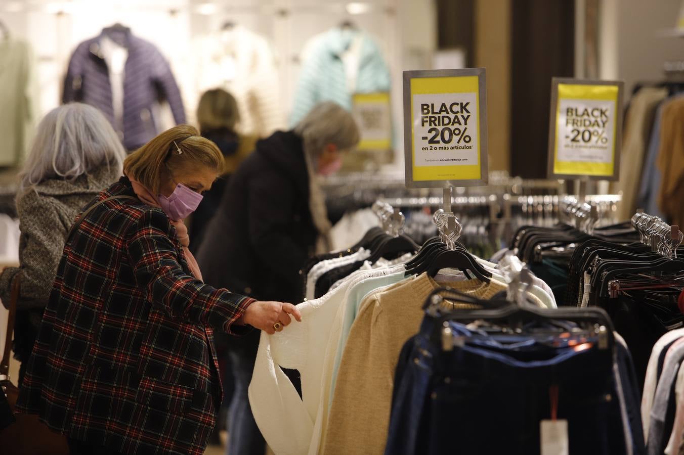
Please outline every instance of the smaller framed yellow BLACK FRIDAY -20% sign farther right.
M622 83L555 79L549 177L618 175Z

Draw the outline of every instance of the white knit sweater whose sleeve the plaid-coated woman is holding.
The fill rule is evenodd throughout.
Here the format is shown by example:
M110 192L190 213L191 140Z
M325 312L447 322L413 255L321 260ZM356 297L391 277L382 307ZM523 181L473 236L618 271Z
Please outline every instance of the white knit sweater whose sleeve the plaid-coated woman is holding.
M402 267L357 271L324 297L300 303L302 322L275 335L261 332L248 395L254 420L276 455L318 453L347 290ZM280 367L300 372L301 399Z

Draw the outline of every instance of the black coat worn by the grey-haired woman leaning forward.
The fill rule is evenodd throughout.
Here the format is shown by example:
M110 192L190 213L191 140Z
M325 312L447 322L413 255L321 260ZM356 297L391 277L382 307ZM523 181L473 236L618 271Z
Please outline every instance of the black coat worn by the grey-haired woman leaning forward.
M231 177L197 261L212 286L299 303L300 268L318 232L311 219L302 139L277 131Z

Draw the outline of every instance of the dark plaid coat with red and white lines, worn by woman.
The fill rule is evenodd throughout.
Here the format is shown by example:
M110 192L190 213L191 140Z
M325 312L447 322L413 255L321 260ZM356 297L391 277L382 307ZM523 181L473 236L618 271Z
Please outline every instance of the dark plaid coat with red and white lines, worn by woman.
M127 178L96 201L114 195L135 196ZM194 279L159 208L105 202L64 247L17 411L123 454L200 455L222 400L212 329L248 330L252 301Z

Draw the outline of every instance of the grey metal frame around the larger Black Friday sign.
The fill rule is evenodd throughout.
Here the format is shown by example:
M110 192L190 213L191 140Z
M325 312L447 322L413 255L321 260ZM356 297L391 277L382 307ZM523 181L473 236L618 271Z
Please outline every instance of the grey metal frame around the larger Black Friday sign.
M479 167L480 178L468 180L413 180L413 118L411 110L411 80L432 77L477 77L479 109ZM465 68L462 70L420 70L404 71L404 166L407 188L444 188L486 186L489 181L488 141L487 141L487 87L484 68Z

